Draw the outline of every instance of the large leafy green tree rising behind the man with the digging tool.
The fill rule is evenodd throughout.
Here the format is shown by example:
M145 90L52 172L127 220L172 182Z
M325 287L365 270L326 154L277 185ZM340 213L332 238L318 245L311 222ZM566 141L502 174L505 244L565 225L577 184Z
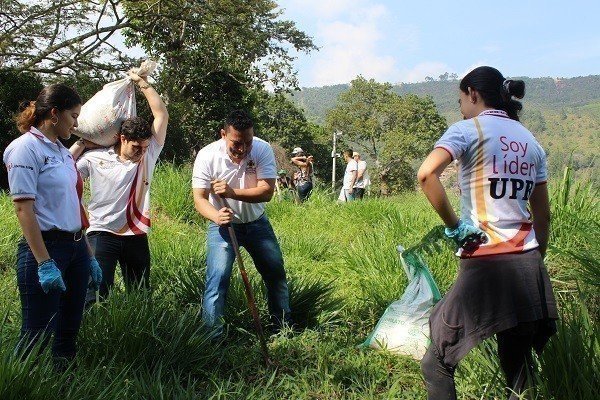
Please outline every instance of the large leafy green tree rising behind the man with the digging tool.
M265 85L297 86L290 49L311 51L312 40L280 18L270 0L161 2L153 18L135 18L155 1L127 2L127 43L160 59L159 89L181 127L171 135L184 155L214 139L227 113L253 109ZM151 23L149 22L151 21ZM171 111L172 110L172 111Z

